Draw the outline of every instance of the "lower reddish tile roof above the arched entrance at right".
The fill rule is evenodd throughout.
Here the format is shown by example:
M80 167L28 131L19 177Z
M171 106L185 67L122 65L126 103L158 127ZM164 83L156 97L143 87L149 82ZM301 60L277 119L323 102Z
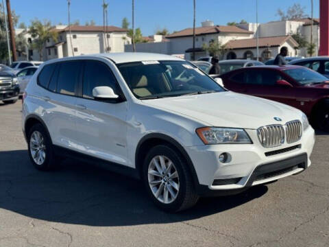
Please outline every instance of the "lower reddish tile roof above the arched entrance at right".
M258 45L259 47L276 47L283 45L287 40L290 40L294 47L299 46L297 41L290 35L258 38ZM226 43L226 48L228 49L245 49L254 47L256 47L256 38L230 40Z

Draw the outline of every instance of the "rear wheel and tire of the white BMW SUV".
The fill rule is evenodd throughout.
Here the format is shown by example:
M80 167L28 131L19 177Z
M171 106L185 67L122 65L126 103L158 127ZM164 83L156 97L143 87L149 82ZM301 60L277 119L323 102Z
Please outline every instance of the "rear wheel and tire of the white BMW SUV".
M40 141L38 141L38 137L40 137ZM56 167L57 157L53 152L53 144L42 124L35 124L29 130L27 134L27 145L29 159L36 169L49 171Z

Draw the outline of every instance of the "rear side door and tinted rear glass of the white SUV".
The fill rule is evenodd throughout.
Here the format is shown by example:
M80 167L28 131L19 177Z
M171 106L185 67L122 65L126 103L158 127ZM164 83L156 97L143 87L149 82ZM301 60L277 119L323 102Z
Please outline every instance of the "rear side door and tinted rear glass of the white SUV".
M82 62L68 60L46 65L38 76L45 90L40 99L53 144L76 150L75 102ZM45 81L45 82L44 82Z

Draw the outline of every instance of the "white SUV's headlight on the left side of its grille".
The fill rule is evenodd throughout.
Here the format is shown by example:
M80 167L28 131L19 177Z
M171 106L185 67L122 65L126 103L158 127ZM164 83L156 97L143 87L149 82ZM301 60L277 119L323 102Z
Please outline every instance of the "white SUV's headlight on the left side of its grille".
M204 127L196 130L204 144L252 143L243 129Z

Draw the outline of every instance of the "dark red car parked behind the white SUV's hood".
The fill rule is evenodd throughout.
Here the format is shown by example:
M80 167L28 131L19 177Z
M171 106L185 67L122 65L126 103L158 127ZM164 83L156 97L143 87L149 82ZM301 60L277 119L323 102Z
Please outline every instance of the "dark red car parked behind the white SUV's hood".
M246 67L219 78L230 91L298 108L308 116L313 126L329 131L329 82L324 75L305 67L287 65Z

